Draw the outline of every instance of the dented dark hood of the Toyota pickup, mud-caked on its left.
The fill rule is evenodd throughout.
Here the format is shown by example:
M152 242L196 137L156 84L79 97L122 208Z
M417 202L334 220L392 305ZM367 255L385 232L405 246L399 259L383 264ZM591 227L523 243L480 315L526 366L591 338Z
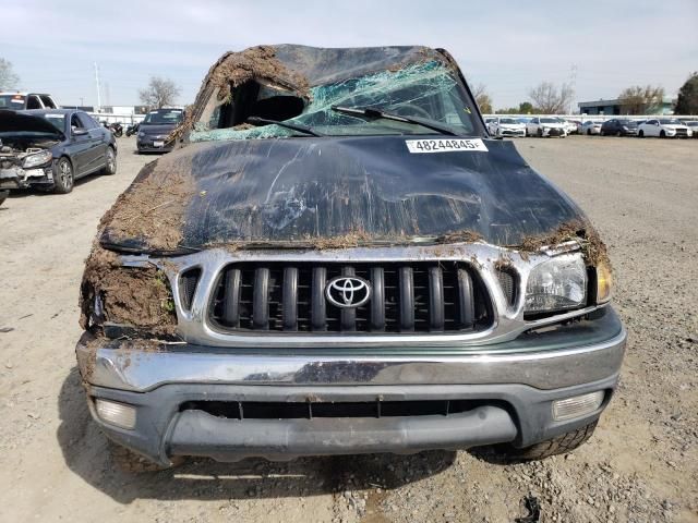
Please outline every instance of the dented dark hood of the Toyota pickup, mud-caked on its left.
M510 142L484 142L486 153L438 154L411 154L404 136L193 144L146 166L103 220L101 243L172 253L468 231L515 245L582 217Z

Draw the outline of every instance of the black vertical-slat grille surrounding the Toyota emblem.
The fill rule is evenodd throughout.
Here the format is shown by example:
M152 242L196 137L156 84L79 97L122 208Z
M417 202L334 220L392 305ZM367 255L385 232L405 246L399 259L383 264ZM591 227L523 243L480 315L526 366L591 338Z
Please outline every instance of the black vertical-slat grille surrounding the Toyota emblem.
M371 299L351 308L325 296L327 282L356 276ZM286 333L464 332L493 323L490 296L466 263L237 263L210 296L209 319L224 331Z

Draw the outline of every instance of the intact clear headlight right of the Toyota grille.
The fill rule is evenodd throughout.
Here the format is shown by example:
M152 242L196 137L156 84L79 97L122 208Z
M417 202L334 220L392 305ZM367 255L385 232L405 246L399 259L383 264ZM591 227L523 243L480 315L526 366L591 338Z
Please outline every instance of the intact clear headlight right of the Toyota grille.
M526 284L527 313L565 311L585 305L587 267L578 254L556 256L534 267Z

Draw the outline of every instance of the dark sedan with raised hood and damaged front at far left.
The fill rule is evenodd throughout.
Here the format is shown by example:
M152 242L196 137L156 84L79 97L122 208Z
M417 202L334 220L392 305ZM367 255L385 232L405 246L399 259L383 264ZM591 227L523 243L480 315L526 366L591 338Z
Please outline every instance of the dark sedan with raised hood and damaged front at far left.
M0 190L70 193L75 180L117 172L117 143L83 111L0 111Z

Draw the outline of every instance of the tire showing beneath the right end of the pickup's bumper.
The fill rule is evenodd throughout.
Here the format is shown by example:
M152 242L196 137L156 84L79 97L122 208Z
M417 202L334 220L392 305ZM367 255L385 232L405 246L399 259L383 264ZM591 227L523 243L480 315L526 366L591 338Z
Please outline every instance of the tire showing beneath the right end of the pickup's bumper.
M541 441L540 443L526 447L524 449L517 449L516 447L504 443L493 445L491 447L484 447L482 450L477 451L476 454L481 455L484 459L491 459L498 462L520 462L520 461L537 461L550 458L556 454L566 454L571 452L579 446L583 445L593 434L597 428L598 419L593 421L589 425L585 425L577 430L562 434L556 438Z

